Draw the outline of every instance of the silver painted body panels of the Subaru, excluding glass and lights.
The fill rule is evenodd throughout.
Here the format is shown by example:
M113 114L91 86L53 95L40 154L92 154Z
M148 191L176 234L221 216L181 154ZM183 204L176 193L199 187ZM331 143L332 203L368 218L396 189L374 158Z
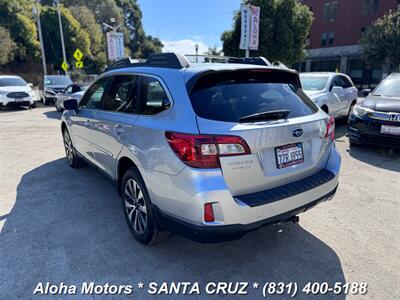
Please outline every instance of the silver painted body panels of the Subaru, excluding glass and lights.
M295 209L329 193L337 185L340 156L334 143L327 143L327 116L317 113L285 122L237 124L216 122L196 117L185 82L210 65L172 70L167 68L132 68L110 71L99 78L116 74L155 76L167 91L172 106L153 116L80 109L65 111L62 120L70 130L77 150L111 178L118 179L118 162L129 158L138 167L152 202L164 213L193 224L249 224ZM246 65L212 65L214 70L263 68ZM89 88L90 89L90 88ZM305 134L294 138L291 132L302 128ZM171 150L165 131L185 133L231 134L242 136L255 161L253 172L229 168L229 159L221 158L221 169L195 169L186 166ZM303 142L306 162L278 170L274 147ZM248 159L245 156L233 161ZM336 175L327 184L294 197L248 207L235 200L236 195L257 192L307 177L323 168ZM203 205L214 203L216 222L204 223Z

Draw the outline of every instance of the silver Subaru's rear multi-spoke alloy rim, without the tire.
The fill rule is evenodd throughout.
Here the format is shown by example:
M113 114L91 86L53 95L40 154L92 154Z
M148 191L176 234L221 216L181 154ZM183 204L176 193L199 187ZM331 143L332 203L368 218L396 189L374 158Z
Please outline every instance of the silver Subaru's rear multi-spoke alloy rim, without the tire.
M147 228L147 208L143 191L134 179L128 179L124 188L125 211L133 230L143 234Z

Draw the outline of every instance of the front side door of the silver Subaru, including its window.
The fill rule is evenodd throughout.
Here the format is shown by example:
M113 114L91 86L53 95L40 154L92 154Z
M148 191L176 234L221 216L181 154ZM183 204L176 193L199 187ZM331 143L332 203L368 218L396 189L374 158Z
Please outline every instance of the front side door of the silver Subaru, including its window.
M92 163L96 163L91 141L95 111L101 108L101 100L109 83L109 78L96 81L83 96L78 112L71 115L71 132L75 148Z

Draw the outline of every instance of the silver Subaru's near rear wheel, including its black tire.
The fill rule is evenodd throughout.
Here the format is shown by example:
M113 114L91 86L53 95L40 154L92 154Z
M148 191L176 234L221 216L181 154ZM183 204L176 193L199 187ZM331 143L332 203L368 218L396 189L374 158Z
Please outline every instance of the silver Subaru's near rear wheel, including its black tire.
M159 228L146 185L135 168L129 168L122 179L121 199L126 222L137 241L154 244L168 237L169 232Z

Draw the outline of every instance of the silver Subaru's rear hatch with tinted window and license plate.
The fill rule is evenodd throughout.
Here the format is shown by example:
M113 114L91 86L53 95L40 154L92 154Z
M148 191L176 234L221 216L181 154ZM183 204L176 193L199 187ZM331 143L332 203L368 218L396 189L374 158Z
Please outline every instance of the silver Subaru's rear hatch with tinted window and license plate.
M303 93L297 73L218 71L187 87L200 134L221 143L228 143L225 136L239 137L229 146L233 152L225 147L227 154L218 157L233 195L295 182L325 167L334 123Z

